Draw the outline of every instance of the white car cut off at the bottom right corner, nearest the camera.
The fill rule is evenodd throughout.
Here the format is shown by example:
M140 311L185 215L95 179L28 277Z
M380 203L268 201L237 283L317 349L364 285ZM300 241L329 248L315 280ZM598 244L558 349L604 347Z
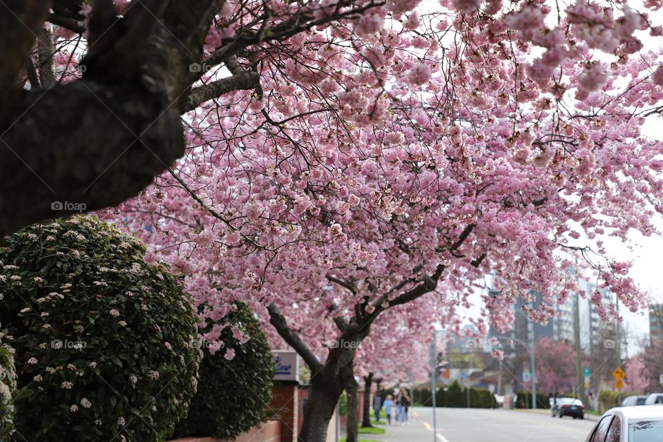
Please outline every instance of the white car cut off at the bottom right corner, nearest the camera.
M608 410L586 439L586 442L660 441L663 441L663 405Z

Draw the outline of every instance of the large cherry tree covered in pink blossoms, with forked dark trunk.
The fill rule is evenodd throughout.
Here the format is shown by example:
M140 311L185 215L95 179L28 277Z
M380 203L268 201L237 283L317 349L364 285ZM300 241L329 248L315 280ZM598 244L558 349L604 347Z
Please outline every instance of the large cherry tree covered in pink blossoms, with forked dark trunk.
M266 4L215 11L201 66L225 70L199 77L189 112L164 124L184 126L184 157L100 215L182 273L203 321L233 300L265 312L311 369L302 440L324 440L361 343L392 312L460 333L498 276L470 317L480 333L506 329L533 291L543 302L525 311L545 321L573 293L578 258L624 307L646 305L602 244L656 233L663 211L662 147L641 135L663 97L659 54L637 36L661 33L646 11ZM247 75L250 87L222 86Z

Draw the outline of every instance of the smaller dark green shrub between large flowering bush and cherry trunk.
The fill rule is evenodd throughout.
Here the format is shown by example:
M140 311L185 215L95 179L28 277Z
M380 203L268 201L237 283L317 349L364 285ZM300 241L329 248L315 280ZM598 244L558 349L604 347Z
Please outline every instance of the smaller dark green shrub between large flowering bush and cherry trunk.
M198 393L191 401L189 416L176 427L177 436L235 439L265 420L265 407L271 401L273 356L249 307L239 302L235 306L218 323L227 325L220 336L222 348L211 354L208 346L202 346Z

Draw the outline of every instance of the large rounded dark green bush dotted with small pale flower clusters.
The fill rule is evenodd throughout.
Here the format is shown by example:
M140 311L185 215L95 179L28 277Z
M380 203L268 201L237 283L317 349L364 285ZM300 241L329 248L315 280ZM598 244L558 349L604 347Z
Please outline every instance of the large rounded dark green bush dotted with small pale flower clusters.
M0 242L0 323L14 336L24 439L162 441L186 416L197 318L177 279L144 254L82 216Z

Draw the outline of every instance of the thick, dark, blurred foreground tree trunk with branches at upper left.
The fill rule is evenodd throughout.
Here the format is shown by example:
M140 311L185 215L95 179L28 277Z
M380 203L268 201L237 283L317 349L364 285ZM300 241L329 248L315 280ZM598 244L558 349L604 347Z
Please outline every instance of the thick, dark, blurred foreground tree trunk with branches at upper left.
M273 23L266 2L256 21L204 58L204 39L225 1L141 0L119 17L112 0L90 0L88 53L75 84L56 78L44 24L84 32L84 0L0 4L0 236L137 195L184 154L182 113L233 90L260 91L259 73L241 66L238 53L380 6L342 1L329 17L302 8ZM193 87L219 64L232 75Z

